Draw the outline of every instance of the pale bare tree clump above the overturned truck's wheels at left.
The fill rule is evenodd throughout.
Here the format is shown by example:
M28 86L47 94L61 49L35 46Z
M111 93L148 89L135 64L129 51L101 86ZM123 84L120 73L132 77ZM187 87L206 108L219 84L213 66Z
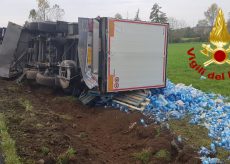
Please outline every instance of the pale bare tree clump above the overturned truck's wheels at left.
M37 10L30 10L29 19L31 21L57 21L61 20L65 14L59 5L55 4L50 7L48 0L37 0Z

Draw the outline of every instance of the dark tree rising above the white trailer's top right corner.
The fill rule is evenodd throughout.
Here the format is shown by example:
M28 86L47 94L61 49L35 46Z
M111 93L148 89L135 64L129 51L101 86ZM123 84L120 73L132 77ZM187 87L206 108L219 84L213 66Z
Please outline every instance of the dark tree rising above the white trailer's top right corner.
M166 13L161 11L161 7L157 3L153 5L149 19L151 20L151 22L156 22L156 23L167 22Z

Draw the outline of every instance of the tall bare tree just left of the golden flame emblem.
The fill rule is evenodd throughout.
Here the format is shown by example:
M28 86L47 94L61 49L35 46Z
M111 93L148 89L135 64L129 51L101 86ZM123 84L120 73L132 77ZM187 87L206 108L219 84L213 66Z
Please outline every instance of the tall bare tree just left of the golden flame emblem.
M216 16L218 14L218 5L216 3L213 3L207 11L204 12L204 15L208 21L208 24L210 26L214 25L214 21L216 19Z

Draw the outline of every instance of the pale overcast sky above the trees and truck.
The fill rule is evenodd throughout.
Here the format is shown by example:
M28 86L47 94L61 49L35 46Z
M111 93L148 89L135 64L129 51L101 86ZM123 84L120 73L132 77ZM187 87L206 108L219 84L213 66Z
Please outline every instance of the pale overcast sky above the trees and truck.
M204 11L212 3L223 9L226 18L230 12L229 0L50 0L51 5L56 3L65 10L64 20L70 22L76 22L78 17L113 17L116 13L130 19L138 8L140 18L148 21L155 2L168 17L185 20L190 26L204 18ZM0 0L0 7L0 26L6 26L8 21L22 25L28 19L30 9L36 8L36 0Z

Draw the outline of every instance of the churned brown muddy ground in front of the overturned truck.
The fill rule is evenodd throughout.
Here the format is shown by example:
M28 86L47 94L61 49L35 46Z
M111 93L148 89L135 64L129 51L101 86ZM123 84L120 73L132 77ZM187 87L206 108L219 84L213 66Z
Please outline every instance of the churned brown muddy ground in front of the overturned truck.
M0 79L0 112L23 163L200 163L140 113L87 107L60 90Z

